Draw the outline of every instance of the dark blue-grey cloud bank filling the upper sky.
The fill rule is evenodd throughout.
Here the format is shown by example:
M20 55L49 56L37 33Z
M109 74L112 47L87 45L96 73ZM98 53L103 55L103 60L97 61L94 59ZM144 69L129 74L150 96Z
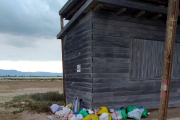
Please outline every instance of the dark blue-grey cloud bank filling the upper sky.
M1 0L0 32L55 37L60 30L58 11L67 0Z

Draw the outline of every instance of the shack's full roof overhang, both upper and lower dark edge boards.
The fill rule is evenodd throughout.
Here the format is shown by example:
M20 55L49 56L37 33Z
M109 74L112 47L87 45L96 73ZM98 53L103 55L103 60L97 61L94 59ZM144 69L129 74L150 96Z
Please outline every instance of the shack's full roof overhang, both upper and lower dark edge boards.
M74 5L79 0L69 0L64 7L60 10L60 15L65 15L68 10L72 9ZM166 7L159 7L153 4L137 2L135 0L87 0L86 3L75 13L75 15L70 19L70 21L66 24L66 26L59 32L57 35L57 39L62 39L63 36L68 32L68 30L79 20L79 18L87 13L89 10L93 9L99 3L101 4L111 4L115 6L126 7L136 10L143 10L149 11L153 13L167 15L167 8ZM179 12L180 16L180 12Z

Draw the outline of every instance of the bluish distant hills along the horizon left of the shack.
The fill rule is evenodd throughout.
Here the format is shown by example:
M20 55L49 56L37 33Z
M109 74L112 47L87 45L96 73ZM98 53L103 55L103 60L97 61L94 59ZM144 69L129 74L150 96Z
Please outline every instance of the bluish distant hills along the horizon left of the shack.
M20 72L17 70L2 70L2 69L0 69L0 76L62 76L62 73Z

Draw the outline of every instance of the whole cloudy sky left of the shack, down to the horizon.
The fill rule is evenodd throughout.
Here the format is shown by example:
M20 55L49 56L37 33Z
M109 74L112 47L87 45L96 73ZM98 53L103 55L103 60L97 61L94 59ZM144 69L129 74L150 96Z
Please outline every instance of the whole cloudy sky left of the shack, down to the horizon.
M0 0L0 69L62 73L59 10L67 0Z

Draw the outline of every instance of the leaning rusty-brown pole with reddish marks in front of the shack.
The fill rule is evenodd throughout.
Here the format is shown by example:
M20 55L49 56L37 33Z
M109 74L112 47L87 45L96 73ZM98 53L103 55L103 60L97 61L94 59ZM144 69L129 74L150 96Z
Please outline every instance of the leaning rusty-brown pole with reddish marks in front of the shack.
M169 0L161 81L159 120L167 120L179 0Z

